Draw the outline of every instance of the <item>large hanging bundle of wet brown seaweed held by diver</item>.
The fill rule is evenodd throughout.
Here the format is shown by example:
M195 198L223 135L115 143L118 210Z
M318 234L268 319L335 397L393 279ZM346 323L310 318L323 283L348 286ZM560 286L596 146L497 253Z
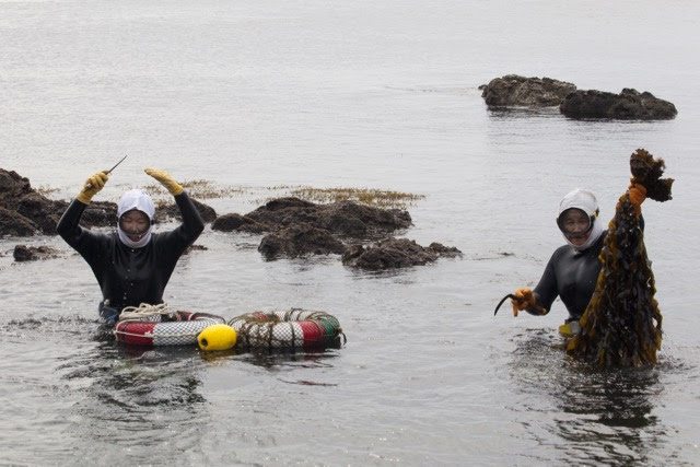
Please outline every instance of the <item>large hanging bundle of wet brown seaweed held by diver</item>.
M645 189L646 198L667 201L674 180L661 178L664 161L643 149L632 153L630 167L630 189L618 200L608 225L595 292L580 320L582 331L567 346L570 354L606 367L654 364L662 340L662 315L640 225L640 200L630 198L630 191L633 187Z

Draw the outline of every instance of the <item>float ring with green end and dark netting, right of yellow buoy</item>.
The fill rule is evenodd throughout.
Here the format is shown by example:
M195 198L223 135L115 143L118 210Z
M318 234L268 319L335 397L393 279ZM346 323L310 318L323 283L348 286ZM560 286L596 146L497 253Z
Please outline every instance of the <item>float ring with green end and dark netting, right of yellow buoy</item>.
M236 347L267 350L322 350L347 341L338 319L326 312L291 308L253 312L229 320L238 335Z

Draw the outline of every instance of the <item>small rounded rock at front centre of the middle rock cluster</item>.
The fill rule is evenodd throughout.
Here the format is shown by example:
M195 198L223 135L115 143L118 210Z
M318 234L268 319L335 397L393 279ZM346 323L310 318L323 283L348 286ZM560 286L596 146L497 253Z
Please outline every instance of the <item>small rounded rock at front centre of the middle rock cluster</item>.
M296 258L306 255L341 254L345 250L342 242L329 231L301 223L285 226L262 237L258 252L266 259L280 256Z

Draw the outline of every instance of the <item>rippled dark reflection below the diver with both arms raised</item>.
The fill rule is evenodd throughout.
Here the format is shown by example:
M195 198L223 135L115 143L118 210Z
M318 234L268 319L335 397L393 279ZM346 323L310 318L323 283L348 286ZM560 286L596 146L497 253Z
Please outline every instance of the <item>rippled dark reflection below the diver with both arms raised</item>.
M72 355L60 369L62 377L86 383L71 410L81 440L75 448L128 447L140 458L164 445L198 446L199 428L211 421L199 392L200 366L196 350L126 348L114 341Z

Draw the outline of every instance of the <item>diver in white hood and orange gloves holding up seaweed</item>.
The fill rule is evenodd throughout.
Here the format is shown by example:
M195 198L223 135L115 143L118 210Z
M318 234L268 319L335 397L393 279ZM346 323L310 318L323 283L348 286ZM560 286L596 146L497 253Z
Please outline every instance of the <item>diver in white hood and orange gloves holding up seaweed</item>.
M645 192L640 187L630 187L630 201L638 209ZM598 219L598 201L592 191L575 189L559 202L557 225L567 241L555 250L535 290L516 289L511 300L513 314L526 311L532 315L546 315L557 296L569 311L569 317L559 326L559 332L572 337L581 330L579 319L593 296L607 229ZM643 221L642 221L643 222Z

